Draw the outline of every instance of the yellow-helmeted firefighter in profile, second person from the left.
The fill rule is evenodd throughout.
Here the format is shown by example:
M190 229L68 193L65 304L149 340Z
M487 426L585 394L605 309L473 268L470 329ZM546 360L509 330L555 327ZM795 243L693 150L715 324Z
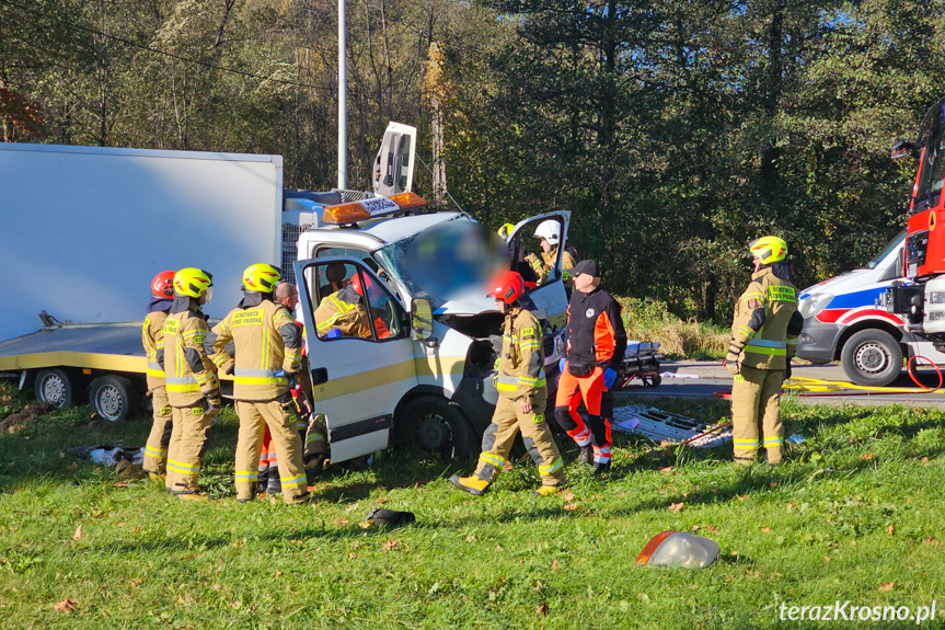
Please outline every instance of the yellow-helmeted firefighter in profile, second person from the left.
M198 493L197 477L221 406L216 367L204 352L209 328L200 310L210 303L212 286L212 276L203 270L178 271L174 302L164 320L164 381L173 422L164 485L181 499L207 499Z

